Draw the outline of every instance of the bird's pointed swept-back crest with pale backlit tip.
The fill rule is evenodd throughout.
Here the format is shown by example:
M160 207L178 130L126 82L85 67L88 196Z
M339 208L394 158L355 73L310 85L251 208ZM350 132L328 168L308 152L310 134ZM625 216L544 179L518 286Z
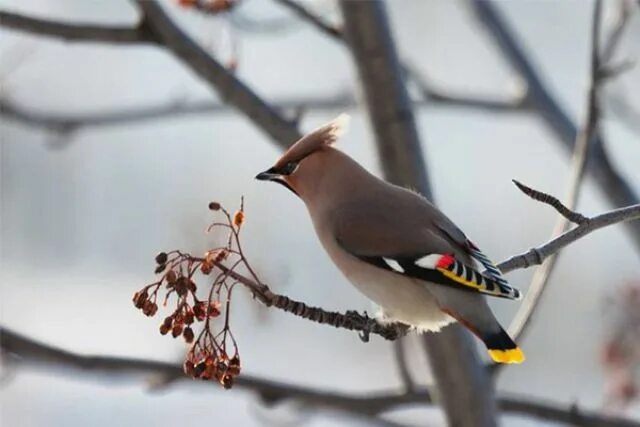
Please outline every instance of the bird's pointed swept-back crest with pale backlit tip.
M280 157L274 167L278 168L289 162L299 162L314 151L335 144L344 132L349 123L349 119L348 114L342 113L329 123L309 132L296 141L296 143Z

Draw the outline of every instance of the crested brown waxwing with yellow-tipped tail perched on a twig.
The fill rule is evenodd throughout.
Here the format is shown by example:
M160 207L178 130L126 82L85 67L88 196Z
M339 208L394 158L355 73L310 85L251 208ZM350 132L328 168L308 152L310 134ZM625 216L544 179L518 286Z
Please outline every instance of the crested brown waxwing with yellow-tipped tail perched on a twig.
M304 135L255 178L304 202L329 258L381 308L380 321L418 332L457 321L494 362L522 363L523 351L485 298L517 300L520 292L425 197L376 177L335 148L348 122L343 113Z

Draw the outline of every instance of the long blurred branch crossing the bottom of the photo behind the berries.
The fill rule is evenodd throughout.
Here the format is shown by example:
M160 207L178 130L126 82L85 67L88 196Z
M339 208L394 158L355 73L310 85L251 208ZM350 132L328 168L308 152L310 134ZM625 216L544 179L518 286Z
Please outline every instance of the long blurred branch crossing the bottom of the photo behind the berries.
M48 371L53 368L79 371L86 376L107 374L110 378L114 376L131 378L135 375L151 374L165 379L165 384L171 384L173 381L188 381L192 385L209 385L208 382L193 381L184 375L180 366L172 363L126 357L81 355L44 344L4 327L0 327L0 348L4 353L16 356L15 359L6 359L9 361L8 363L45 367ZM417 389L411 393L382 391L374 394L352 395L302 387L251 375L238 377L235 387L256 393L267 404L291 399L317 408L328 408L366 417L378 416L391 410L426 406L433 403L433 399L426 389ZM217 387L210 387L210 389L218 390ZM563 408L559 405L532 401L522 397L504 396L499 399L498 403L505 413L527 415L576 426L640 426L635 421L579 410L576 406Z

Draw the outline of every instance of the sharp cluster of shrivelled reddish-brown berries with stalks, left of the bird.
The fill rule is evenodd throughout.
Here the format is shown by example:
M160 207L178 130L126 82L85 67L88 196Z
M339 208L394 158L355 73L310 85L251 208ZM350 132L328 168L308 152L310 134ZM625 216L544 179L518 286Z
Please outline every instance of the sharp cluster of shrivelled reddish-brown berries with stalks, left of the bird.
M133 296L136 308L149 317L158 311L158 294L164 293L163 306L175 296L175 308L160 325L162 335L182 338L191 348L184 362L184 371L192 378L212 380L224 388L233 385L240 374L240 355L229 327L231 293L237 283L234 270L248 265L240 246L240 230L244 223L244 203L233 216L219 203L209 204L212 211L222 211L225 221L214 222L207 231L222 228L228 232L227 244L207 251L203 257L194 257L180 251L160 252L156 255L156 274L160 279ZM212 274L214 273L215 274ZM206 299L198 298L196 275L211 276ZM224 304L224 309L222 308ZM222 314L224 313L224 316ZM218 321L217 318L223 320ZM197 324L202 330L194 332ZM218 328L214 331L215 328Z

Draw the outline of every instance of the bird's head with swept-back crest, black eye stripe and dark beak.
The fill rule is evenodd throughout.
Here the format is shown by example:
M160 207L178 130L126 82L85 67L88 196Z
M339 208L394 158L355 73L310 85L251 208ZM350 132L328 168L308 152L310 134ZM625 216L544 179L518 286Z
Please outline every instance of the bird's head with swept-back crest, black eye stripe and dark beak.
M321 178L323 156L344 131L349 116L340 114L334 120L300 138L269 169L256 175L261 181L284 185L303 197L315 188Z

